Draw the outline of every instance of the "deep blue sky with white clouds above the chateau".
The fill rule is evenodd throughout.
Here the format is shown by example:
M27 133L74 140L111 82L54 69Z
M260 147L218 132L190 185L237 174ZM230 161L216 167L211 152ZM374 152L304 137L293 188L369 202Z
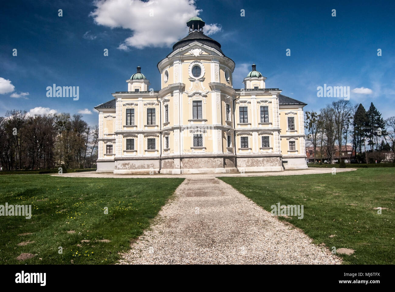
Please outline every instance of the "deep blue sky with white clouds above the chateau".
M126 91L136 66L160 89L156 64L199 15L205 33L236 63L235 88L254 62L266 87L316 110L337 98L317 87L350 86L350 101L384 118L395 111L395 4L392 1L12 1L0 8L0 116L7 110L82 112ZM58 16L62 9L63 16ZM245 9L245 17L241 17ZM332 17L336 9L336 17ZM152 16L149 16L151 13ZM17 49L17 56L13 56ZM103 50L108 49L108 56ZM286 56L286 49L291 55ZM377 50L382 50L382 56ZM47 97L47 86L79 86L79 100ZM361 93L357 93L361 92ZM28 93L28 94L27 94Z

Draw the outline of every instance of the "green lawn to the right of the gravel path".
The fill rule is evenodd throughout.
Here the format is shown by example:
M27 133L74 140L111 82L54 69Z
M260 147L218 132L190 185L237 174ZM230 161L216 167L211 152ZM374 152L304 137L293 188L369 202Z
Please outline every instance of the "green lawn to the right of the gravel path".
M395 264L394 169L220 179L269 212L278 202L304 205L303 219L278 218L303 229L316 244L355 250L338 254L344 264ZM387 209L378 214L375 207Z

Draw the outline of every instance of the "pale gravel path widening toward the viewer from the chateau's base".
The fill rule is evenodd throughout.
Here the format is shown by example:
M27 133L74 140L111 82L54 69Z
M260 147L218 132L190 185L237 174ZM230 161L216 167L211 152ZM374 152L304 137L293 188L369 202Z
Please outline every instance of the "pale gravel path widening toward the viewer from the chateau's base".
M352 171L354 169L337 169ZM330 173L307 169L249 176ZM147 177L111 173L70 173L63 176ZM152 177L175 175L152 175ZM216 176L184 174L175 196L149 230L122 254L120 264L341 264L328 249L311 243L299 229L276 217Z

